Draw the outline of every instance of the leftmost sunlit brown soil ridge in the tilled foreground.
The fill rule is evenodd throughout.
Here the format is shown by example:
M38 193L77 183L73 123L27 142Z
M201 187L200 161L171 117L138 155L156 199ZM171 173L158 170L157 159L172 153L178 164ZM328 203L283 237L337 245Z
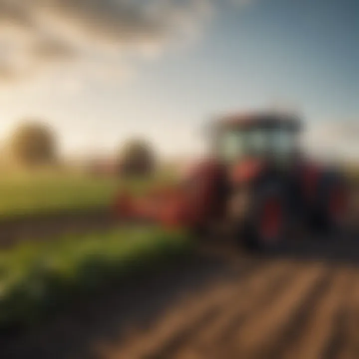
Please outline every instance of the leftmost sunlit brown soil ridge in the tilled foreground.
M134 346L129 338L124 346L126 348L121 348L119 352L113 349L110 351L110 358L168 358L170 353L175 352L193 333L206 327L211 319L230 304L240 294L244 283L265 274L270 265L251 263L238 275L229 273L228 283L189 298L187 303L184 301L177 310L169 313L163 321L153 325L144 334L137 333L135 342L140 340L141 347Z

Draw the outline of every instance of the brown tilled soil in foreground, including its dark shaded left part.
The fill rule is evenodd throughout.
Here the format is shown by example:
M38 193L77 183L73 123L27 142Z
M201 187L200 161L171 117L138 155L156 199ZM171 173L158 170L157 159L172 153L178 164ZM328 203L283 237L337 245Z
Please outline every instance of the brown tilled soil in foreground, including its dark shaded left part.
M359 236L267 255L206 247L28 333L2 334L0 358L357 359Z

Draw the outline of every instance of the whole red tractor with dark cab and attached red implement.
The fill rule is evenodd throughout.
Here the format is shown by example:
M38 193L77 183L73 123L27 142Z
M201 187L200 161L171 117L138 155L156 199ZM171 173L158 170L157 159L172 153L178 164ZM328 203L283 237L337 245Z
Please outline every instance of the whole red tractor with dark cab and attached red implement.
M194 231L224 223L238 242L256 249L278 246L299 224L334 232L346 217L345 179L304 157L301 132L292 115L227 116L210 127L208 158L177 185L137 199L121 193L116 212Z

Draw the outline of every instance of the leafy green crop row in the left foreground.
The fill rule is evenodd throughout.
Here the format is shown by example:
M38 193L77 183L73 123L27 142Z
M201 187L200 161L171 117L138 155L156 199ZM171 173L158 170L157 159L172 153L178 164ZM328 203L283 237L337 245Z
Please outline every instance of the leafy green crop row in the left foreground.
M184 233L137 228L26 243L2 252L0 326L37 323L73 299L147 274L190 249Z

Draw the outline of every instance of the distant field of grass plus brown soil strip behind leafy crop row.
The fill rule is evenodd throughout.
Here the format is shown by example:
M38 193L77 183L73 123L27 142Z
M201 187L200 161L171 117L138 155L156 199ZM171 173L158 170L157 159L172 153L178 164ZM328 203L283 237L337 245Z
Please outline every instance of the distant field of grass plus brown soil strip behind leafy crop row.
M3 177L0 246L114 228L119 220L112 213L112 204L119 190L136 195L171 180L163 174L150 180L69 175Z

